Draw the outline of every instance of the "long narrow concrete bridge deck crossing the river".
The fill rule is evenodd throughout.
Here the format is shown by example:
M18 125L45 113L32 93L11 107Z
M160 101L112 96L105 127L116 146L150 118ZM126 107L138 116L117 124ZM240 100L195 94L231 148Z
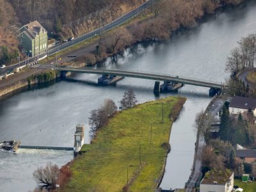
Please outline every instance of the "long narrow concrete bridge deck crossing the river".
M52 65L40 65L39 68L52 68L54 70L60 70L60 72L76 72L86 74L100 74L107 76L122 76L133 77L139 79L150 79L155 81L191 84L195 86L203 86L211 88L211 90L223 90L225 84L214 81L206 81L203 79L193 79L182 76L172 76L169 74L159 74L152 72L141 72L135 70L118 70L118 69L106 69L106 68L72 68L72 67L53 67Z

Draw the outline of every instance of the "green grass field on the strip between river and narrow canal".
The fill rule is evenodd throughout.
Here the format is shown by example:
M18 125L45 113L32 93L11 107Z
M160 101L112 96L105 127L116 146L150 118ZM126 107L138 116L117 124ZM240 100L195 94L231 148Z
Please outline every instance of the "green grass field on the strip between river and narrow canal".
M169 141L172 126L169 116L177 102L182 106L181 100L186 99L168 97L118 113L97 132L92 145L83 146L87 152L72 164L72 177L63 191L122 191L127 184L127 169L129 191L154 191L166 156L161 144Z

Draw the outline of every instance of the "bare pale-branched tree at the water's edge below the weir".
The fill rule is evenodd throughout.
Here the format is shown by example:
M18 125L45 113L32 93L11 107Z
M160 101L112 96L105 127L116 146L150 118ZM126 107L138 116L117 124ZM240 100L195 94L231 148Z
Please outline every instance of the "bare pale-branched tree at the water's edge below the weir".
M37 168L33 177L40 186L55 188L59 174L60 170L56 164L47 163L44 168Z

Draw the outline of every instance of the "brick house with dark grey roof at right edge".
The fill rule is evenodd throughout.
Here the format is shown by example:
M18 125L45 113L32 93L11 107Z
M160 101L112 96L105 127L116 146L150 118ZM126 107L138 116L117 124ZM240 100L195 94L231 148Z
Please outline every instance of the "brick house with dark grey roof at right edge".
M242 159L246 163L256 163L256 149L248 149L237 144L236 158Z

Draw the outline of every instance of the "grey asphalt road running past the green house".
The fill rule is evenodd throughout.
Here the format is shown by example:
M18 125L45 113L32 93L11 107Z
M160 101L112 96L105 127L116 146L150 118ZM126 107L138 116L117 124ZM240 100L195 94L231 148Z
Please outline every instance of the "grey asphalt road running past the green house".
M150 6L153 2L154 2L154 0L148 0L145 3L141 4L140 6L138 6L138 8L135 8L131 12L128 12L125 15L122 15L118 19L113 20L113 22L110 22L109 24L106 24L102 28L95 29L94 31L91 31L89 33L81 35L81 36L75 38L74 40L72 40L70 42L66 42L65 44L58 45L57 47L54 47L53 49L50 49L49 51L47 51L47 53L40 54L39 57L42 58L46 54L48 56L51 56L52 54L55 54L56 52L60 52L63 49L67 49L68 47L71 47L72 45L79 44L80 42L82 42L86 39L92 38L93 36L97 36L97 35L99 35L99 33L102 33L104 31L109 31L110 29L116 28L116 27L120 26L121 24L123 24L124 22L126 22L127 20L130 20L133 17L136 17L138 15L138 13L140 13L141 11L148 8L148 6ZM36 57L35 58L29 58L29 62L32 62L32 61L35 61L35 60L36 60ZM16 67L19 67L19 66L22 66L22 65L25 65L25 61L20 61L20 63L15 63L13 65L10 65L10 66L0 70L0 76L2 76L6 72L9 72L9 71L13 70L13 68L16 68Z

